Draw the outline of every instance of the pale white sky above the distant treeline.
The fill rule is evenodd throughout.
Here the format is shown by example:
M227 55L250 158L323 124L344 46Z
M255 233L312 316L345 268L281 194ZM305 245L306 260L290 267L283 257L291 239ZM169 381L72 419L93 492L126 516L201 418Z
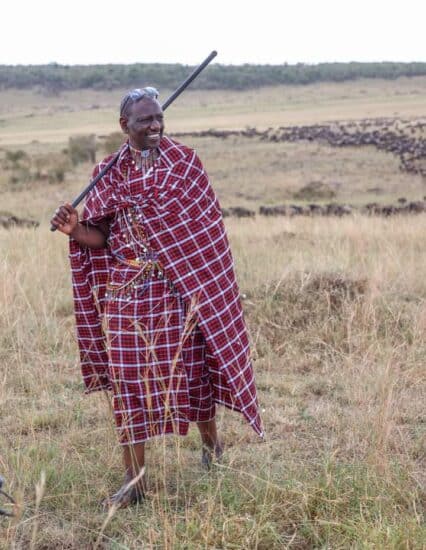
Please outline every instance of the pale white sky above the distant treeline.
M426 0L5 0L0 64L426 61Z

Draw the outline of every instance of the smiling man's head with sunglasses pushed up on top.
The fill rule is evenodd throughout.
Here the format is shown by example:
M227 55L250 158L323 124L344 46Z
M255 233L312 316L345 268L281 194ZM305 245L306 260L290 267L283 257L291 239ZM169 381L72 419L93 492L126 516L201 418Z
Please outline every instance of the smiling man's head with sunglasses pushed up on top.
M154 149L164 130L163 110L155 88L137 88L128 92L120 104L120 126L136 149Z

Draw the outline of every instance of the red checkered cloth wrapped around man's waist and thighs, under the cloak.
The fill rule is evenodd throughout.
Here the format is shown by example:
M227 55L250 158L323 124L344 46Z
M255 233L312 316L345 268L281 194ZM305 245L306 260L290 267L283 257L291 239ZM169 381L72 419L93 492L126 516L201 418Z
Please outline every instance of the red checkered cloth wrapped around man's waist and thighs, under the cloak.
M143 286L143 285L141 285ZM105 302L113 408L122 443L214 418L215 404L199 327L187 322L179 294L164 278ZM185 330L187 325L187 330Z

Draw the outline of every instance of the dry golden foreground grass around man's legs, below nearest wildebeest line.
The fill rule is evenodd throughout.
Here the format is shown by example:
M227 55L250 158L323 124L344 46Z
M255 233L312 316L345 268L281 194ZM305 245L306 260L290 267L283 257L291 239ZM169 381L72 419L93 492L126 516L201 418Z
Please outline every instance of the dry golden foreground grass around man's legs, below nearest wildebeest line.
M112 518L103 547L421 548L425 230L230 222L267 441L221 416L211 475L195 431L154 441L149 500ZM64 239L14 230L1 246L1 469L22 514L4 547L91 547L121 468L104 399L81 392Z

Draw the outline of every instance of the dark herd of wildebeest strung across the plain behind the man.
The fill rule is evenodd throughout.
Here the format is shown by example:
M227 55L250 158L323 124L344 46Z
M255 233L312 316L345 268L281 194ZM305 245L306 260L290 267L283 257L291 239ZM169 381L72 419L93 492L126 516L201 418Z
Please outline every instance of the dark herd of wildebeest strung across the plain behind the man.
M174 137L213 137L227 139L232 136L277 142L319 142L332 147L370 146L399 158L399 169L426 178L426 118L404 120L396 118L369 118L358 121L330 122L309 126L281 126L258 130L205 130L175 133ZM426 179L425 179L426 182ZM223 215L236 217L262 216L346 216L354 212L367 215L392 216L426 212L426 196L422 200L408 201L404 197L394 205L376 202L364 206L351 206L338 202L328 204L306 203L260 206L258 212L246 207L224 208ZM0 227L34 227L38 223L0 212Z

